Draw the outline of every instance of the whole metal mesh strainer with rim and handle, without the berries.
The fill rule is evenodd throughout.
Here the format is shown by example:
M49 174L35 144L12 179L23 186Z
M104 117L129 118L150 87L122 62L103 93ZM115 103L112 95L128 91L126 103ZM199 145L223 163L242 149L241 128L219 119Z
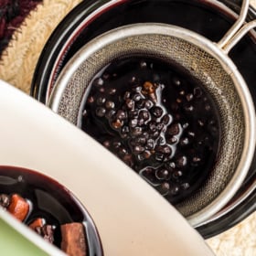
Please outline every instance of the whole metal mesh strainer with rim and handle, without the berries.
M240 18L215 44L181 27L134 24L97 37L69 60L56 82L49 107L78 123L80 104L93 77L115 59L150 57L175 63L200 80L219 111L220 147L217 162L205 184L176 208L196 227L223 208L240 187L251 165L255 148L255 112L251 94L240 72L229 59L233 46L252 27L242 27L249 1Z

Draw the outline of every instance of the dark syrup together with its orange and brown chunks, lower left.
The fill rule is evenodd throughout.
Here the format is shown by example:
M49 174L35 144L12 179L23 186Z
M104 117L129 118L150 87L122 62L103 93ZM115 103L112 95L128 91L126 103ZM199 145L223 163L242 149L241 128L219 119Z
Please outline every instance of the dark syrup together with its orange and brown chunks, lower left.
M24 205L29 208L25 215ZM48 176L20 167L0 166L0 207L62 251L73 246L63 230L79 227L84 244L80 242L83 251L76 256L102 255L101 240L87 210L66 187ZM20 219L22 215L24 218Z

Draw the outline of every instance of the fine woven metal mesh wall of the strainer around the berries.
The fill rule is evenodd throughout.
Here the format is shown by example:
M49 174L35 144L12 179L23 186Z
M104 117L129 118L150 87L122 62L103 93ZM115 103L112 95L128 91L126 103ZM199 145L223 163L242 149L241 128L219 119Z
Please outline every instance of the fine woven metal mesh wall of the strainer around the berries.
M53 93L51 101L57 105L56 112L70 123L77 124L80 104L92 78L112 60L127 56L163 59L186 69L193 77L200 80L219 111L221 137L218 159L208 180L194 195L176 206L181 214L189 218L219 197L240 164L247 123L240 92L235 85L237 80L234 79L232 70L220 60L198 47L192 42L193 40L176 37L175 33L165 35L165 33L157 33L156 30L155 33L151 31L120 38L118 35L114 33L115 38L108 40L107 44L102 43L104 37L100 39L100 43L96 39L80 50L57 81L56 91L59 90L58 87L61 88L60 97ZM94 48L98 43L99 47ZM89 50L90 54L86 54L84 58L83 54L87 49L91 51ZM74 63L77 65L75 69ZM73 71L65 75L70 67Z

